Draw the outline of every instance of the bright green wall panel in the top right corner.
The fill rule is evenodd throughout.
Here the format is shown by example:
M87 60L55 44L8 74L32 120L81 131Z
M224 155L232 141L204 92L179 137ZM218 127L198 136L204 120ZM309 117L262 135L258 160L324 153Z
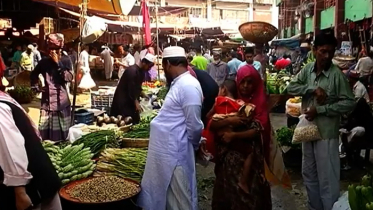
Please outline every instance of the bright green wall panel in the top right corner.
M345 1L345 20L352 21L363 20L372 17L371 0L346 0Z

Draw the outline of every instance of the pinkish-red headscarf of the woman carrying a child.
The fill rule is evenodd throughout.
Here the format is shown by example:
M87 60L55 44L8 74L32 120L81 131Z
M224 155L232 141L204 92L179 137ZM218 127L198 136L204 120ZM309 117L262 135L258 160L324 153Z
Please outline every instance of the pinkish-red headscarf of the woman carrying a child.
M245 101L245 103L252 103L256 106L254 114L255 119L260 122L263 126L264 131L263 144L264 144L264 154L266 160L269 161L269 152L270 152L270 142L271 142L271 124L269 121L269 113L267 109L267 96L264 90L264 83L260 77L259 72L251 65L245 65L240 68L237 72L236 83L237 86L242 82L246 77L251 77L252 82L254 83L254 90L250 97L243 97L238 92L240 99Z

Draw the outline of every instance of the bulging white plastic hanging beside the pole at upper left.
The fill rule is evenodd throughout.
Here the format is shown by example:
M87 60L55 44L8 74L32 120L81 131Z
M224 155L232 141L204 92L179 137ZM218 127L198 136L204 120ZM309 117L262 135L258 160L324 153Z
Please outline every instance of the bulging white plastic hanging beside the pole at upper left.
M107 29L107 25L102 18L89 17L84 23L82 30L82 41L84 44L95 42Z

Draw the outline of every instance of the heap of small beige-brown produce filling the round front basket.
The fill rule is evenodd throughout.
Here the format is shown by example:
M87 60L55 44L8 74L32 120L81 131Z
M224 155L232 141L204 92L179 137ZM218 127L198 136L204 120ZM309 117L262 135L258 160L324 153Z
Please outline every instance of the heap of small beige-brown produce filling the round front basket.
M137 184L115 176L104 176L77 184L67 193L81 202L112 202L130 198L139 193Z

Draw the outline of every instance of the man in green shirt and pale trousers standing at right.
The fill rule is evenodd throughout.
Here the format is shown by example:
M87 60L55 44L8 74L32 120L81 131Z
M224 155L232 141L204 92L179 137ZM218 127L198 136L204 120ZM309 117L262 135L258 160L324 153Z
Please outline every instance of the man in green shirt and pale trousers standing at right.
M302 145L302 175L311 210L331 210L339 198L339 127L342 114L353 110L354 95L342 71L332 63L337 39L315 37L316 62L307 64L290 82L287 92L302 96L306 118L316 123L321 139Z

